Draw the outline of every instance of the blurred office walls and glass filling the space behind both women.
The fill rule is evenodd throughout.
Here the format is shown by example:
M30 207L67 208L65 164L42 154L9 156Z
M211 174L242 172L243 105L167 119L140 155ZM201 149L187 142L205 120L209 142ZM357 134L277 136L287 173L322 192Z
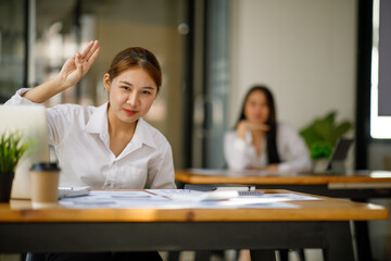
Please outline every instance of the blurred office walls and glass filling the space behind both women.
M87 76L47 104L99 105L111 59L142 46L157 55L164 75L147 120L172 144L176 169L224 167L224 132L248 88L266 84L280 121L300 129L336 110L338 120L354 123L350 166L383 170L391 124L377 113L379 32L390 27L379 14L390 17L389 2L0 0L0 103L52 77L99 39L101 53ZM382 260L384 229L379 234L373 250Z

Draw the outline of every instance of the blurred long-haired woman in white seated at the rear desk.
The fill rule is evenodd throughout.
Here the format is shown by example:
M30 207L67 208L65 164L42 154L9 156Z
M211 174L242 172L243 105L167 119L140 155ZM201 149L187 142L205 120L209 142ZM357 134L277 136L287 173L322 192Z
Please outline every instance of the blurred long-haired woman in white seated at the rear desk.
M231 170L311 171L310 151L291 126L277 123L270 90L254 86L245 95L234 130L225 135L225 159Z

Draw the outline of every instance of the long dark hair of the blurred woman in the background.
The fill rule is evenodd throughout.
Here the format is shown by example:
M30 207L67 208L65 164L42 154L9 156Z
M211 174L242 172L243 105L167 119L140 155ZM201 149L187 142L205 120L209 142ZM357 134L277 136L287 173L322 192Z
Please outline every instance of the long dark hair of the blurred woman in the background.
M235 128L238 127L238 124L240 121L245 120L245 115L244 115L244 107L245 107L245 102L249 99L249 96L254 92L254 91L262 91L265 96L266 96L266 101L267 101L267 105L269 108L269 116L267 119L266 124L269 126L269 130L266 133L266 140L267 140L267 156L268 156L268 163L273 164L273 163L279 163L280 159L278 156L278 151L277 151L277 120L276 120L276 107L275 107L275 101L273 98L273 94L272 91L266 87L266 86L262 86L262 85L255 85L253 86L245 95L244 100L243 100L243 104L241 107L241 112L238 119L238 122L235 126Z

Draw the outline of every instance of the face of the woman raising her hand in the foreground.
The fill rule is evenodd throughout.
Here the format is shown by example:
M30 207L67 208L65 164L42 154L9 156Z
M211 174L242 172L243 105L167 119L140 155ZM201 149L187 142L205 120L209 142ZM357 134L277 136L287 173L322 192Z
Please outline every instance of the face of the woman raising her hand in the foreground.
M156 95L157 86L142 69L130 69L110 82L110 75L103 78L109 92L110 114L125 123L134 123L147 114Z

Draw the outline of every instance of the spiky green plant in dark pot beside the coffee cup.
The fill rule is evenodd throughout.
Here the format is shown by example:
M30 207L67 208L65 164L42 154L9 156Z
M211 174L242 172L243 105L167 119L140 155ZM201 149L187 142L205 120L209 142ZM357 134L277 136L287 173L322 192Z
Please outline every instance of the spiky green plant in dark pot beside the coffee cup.
M20 132L0 134L0 202L9 202L17 162L31 142L23 142Z

